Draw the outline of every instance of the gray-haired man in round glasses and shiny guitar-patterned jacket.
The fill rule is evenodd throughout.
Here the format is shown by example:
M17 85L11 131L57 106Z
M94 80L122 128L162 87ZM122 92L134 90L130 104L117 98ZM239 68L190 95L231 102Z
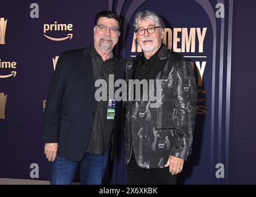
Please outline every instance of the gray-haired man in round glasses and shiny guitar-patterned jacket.
M127 62L126 82L153 79L161 81L161 88L156 83L148 91L143 87L140 100L125 104L128 183L175 184L192 146L197 105L194 71L186 58L162 44L164 22L155 12L138 12L134 28L142 53ZM134 86L129 86L132 92L130 88ZM160 96L155 102L143 100L143 94L157 90Z

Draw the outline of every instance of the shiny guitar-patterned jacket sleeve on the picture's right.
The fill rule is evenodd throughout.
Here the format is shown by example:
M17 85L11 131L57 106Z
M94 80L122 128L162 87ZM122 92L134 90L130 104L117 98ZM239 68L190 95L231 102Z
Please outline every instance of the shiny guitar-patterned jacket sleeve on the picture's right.
M197 86L189 61L182 58L174 68L174 126L176 130L171 155L187 160L190 154L197 109Z

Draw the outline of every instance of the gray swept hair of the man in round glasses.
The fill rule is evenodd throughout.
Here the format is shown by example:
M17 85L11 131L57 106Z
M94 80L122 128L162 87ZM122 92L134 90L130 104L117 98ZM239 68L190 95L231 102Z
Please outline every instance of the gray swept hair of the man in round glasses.
M161 26L161 28L165 28L163 18L161 18L158 14L151 10L139 11L135 14L134 19L134 30L137 30L138 27L138 20L147 20L151 19L154 20L156 25Z

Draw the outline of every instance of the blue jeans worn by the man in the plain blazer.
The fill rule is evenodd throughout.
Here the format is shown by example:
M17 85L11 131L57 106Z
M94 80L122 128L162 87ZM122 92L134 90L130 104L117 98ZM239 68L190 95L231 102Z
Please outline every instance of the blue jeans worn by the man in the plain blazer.
M82 185L100 185L108 164L107 149L104 155L85 153L80 161L80 183ZM79 162L70 161L57 156L50 162L51 185L69 185L72 183Z

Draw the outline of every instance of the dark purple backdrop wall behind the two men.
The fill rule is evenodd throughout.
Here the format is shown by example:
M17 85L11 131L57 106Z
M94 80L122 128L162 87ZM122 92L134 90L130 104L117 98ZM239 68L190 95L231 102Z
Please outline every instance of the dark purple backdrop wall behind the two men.
M200 65L207 63L203 83L198 84L198 89L206 91L198 94L198 98L205 99L198 102L205 106L205 113L197 115L192 155L178 182L256 183L253 156L256 96L252 87L256 71L253 59L256 28L252 23L256 18L255 1L56 0L36 3L39 18L30 17L32 1L4 1L0 6L1 21L7 19L5 44L0 44L0 93L7 95L5 113L1 104L3 94L0 95L0 178L49 179L41 136L43 100L54 71L53 58L63 50L92 43L95 15L108 9L125 18L117 52L126 59L136 55L132 50L134 14L150 9L164 18L166 28L200 28L201 31L207 28L203 52L198 52L197 39L195 52L181 52ZM224 18L215 15L218 3L224 6ZM54 25L54 22L72 24L72 30L44 33L44 25ZM72 39L64 41L52 41L44 36L64 38L70 33ZM181 33L177 36L182 38ZM0 33L0 42L1 38ZM181 47L181 42L177 47ZM16 62L17 66L2 68L1 62ZM16 71L15 76L4 77L12 71ZM196 66L195 73L198 78ZM117 142L116 157L106 182L122 184L126 183L122 131ZM31 164L38 164L39 177L31 177ZM224 174L219 164L223 164Z

